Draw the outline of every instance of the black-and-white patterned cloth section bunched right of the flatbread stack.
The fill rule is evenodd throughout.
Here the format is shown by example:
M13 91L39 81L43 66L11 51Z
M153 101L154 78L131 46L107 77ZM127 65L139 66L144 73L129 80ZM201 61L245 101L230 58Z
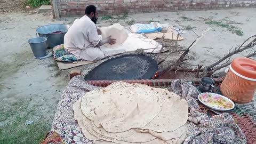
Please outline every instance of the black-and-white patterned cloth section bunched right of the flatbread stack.
M235 119L228 113L209 116L198 105L196 87L177 79L170 90L188 102L187 135L184 144L190 143L246 143L246 137Z

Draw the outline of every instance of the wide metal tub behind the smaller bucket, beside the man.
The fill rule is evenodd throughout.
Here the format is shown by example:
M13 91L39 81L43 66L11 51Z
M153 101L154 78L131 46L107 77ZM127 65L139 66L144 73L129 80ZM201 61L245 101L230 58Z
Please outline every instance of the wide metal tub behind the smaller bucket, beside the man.
M52 24L39 27L36 29L36 32L40 37L46 37L48 47L53 48L54 46L64 43L64 36L67 33L69 27L69 25ZM61 32L57 34L52 34L56 31Z

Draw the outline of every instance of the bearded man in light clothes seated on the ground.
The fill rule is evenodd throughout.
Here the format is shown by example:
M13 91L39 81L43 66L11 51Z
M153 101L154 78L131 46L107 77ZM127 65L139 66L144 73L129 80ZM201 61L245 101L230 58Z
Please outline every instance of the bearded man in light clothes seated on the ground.
M64 47L67 52L76 55L77 58L97 61L104 58L99 46L109 43L115 44L116 39L100 39L100 30L96 27L98 11L95 6L89 5L85 9L85 15L76 19L64 37Z

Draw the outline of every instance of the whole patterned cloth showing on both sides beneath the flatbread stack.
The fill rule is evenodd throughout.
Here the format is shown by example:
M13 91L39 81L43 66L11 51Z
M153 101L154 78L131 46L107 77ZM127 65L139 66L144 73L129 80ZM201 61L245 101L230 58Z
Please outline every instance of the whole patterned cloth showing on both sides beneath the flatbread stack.
M60 135L61 141L49 143L90 143L74 119L73 103L87 92L101 87L87 84L82 76L73 77L63 91L52 123L52 132ZM170 91L188 101L188 130L183 143L246 143L244 133L228 113L208 116L198 105L196 87L182 80L172 82ZM47 139L47 138L46 138Z

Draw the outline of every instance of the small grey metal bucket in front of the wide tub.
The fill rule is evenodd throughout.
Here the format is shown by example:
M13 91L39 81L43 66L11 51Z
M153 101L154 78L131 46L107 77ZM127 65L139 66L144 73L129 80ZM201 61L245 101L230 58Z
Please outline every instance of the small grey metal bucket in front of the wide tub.
M47 49L47 38L45 37L36 37L28 40L28 43L31 47L31 50L35 58L42 58L46 55Z

